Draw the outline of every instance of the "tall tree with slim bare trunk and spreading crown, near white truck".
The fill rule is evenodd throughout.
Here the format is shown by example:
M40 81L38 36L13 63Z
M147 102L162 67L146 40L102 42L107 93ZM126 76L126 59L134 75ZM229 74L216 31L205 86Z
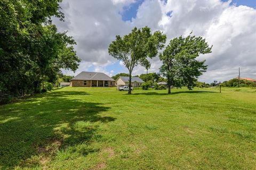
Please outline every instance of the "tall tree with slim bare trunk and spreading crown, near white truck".
M123 38L119 35L111 42L108 48L109 55L124 63L129 71L129 92L131 94L131 77L135 66L146 66L149 62L147 58L157 55L158 49L164 47L166 36L161 31L151 34L150 28L136 27L131 33Z

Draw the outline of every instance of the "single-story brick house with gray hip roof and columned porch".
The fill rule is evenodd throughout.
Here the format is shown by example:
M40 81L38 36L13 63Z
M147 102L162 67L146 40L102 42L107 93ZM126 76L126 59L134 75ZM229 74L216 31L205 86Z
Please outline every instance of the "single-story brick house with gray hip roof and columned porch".
M70 80L71 87L114 87L115 80L104 73L81 72Z

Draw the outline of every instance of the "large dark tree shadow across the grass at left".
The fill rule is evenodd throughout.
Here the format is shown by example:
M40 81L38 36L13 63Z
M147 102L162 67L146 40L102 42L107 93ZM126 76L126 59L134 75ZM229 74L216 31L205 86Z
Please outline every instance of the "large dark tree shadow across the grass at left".
M101 116L109 107L69 99L85 92L54 91L0 107L0 168L43 166L45 157L59 149L99 140L95 122L108 123L114 117ZM74 150L75 151L75 150ZM82 155L97 149L81 149ZM42 160L43 159L43 160Z

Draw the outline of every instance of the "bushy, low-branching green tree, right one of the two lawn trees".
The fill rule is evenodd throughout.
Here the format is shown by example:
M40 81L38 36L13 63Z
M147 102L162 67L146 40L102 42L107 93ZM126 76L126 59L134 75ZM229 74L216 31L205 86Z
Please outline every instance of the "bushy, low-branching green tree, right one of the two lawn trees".
M187 86L191 90L199 75L207 69L205 60L197 61L196 57L211 53L212 47L202 37L190 35L172 39L159 55L163 62L160 71L167 78L168 94L171 93L172 86Z

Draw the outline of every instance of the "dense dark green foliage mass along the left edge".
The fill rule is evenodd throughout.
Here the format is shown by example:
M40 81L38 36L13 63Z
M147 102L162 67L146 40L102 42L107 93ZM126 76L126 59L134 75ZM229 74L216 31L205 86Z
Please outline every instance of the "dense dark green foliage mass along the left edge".
M50 17L63 20L61 0L0 1L0 91L20 96L55 82L60 69L75 71L75 41L58 32Z

